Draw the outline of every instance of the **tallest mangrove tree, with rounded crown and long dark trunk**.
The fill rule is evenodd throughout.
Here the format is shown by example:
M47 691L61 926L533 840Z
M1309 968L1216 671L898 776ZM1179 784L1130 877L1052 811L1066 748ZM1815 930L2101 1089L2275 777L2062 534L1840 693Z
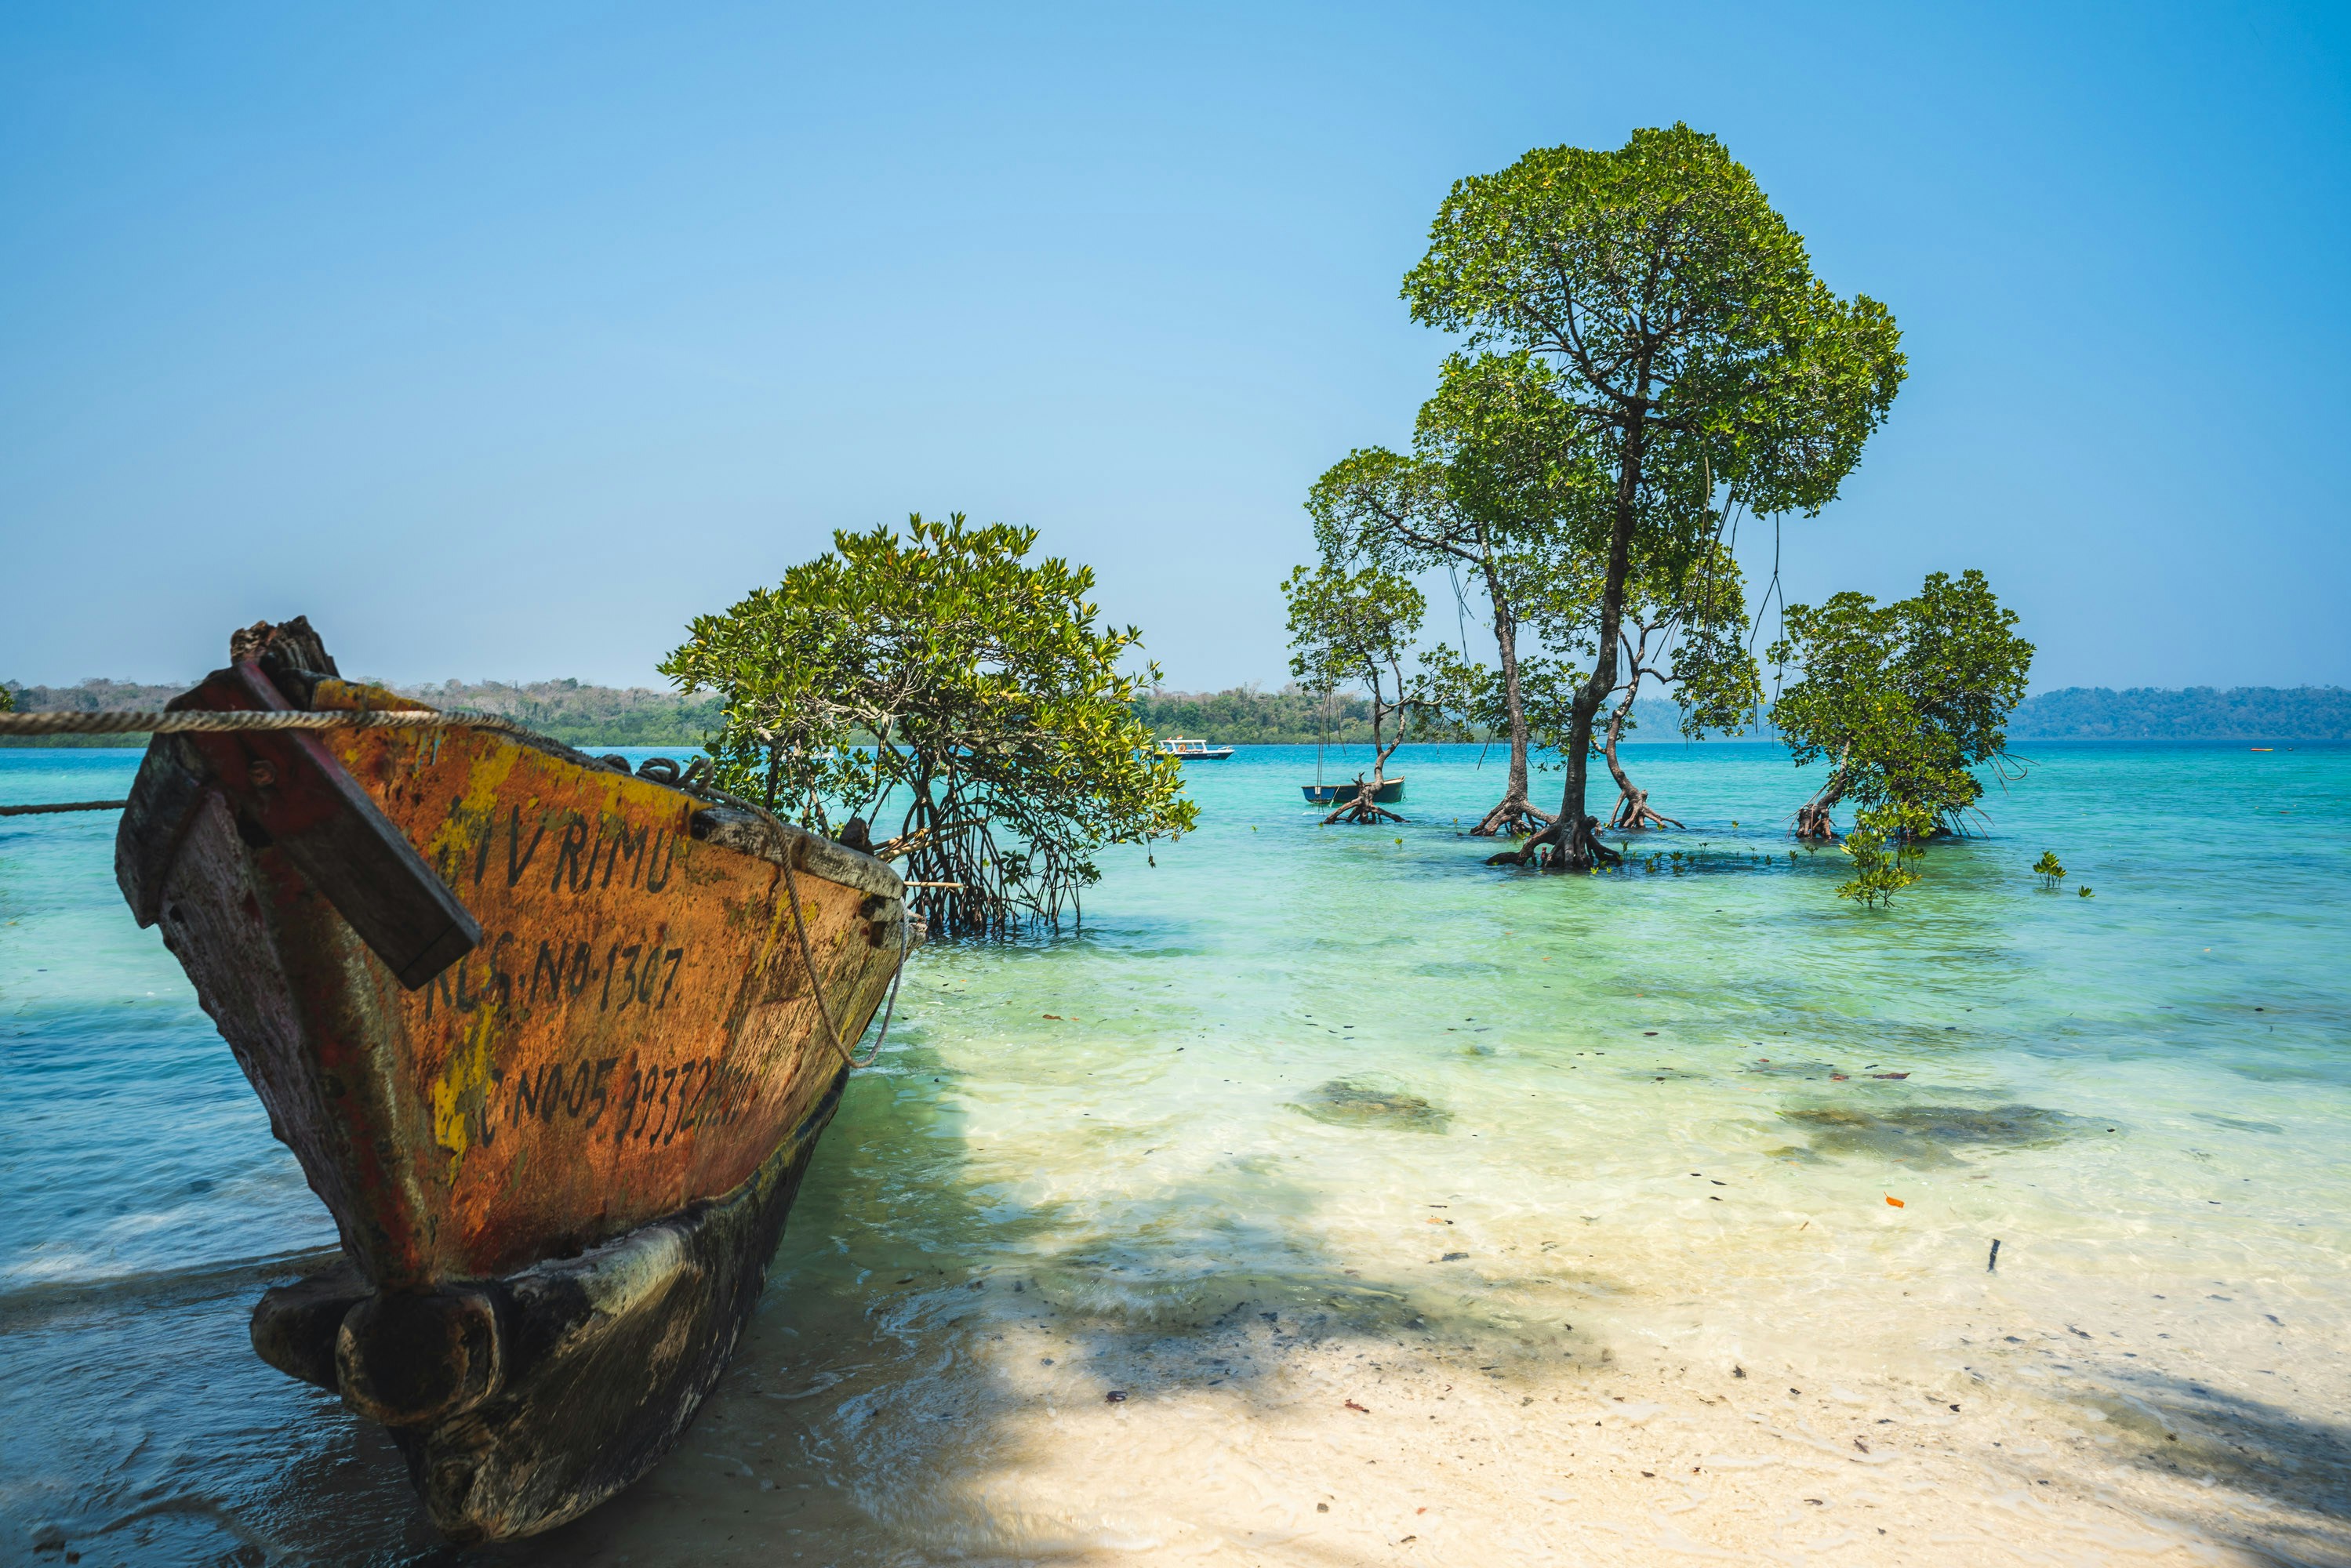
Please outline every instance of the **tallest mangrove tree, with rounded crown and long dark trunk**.
M1876 301L1813 277L1754 176L1686 125L1613 153L1538 148L1458 181L1404 299L1472 350L1540 360L1556 400L1542 418L1563 442L1554 473L1601 480L1568 512L1603 564L1594 668L1570 712L1561 818L1526 849L1589 865L1608 851L1585 813L1585 755L1617 684L1636 541L1672 567L1702 559L1733 503L1827 505L1893 404L1900 334Z

